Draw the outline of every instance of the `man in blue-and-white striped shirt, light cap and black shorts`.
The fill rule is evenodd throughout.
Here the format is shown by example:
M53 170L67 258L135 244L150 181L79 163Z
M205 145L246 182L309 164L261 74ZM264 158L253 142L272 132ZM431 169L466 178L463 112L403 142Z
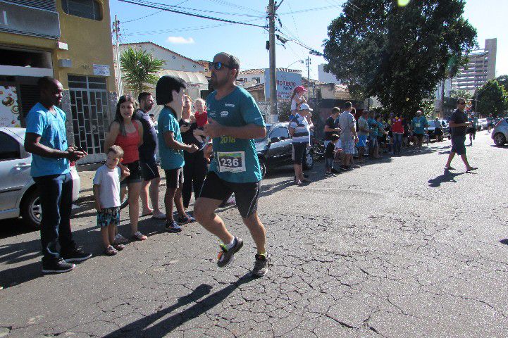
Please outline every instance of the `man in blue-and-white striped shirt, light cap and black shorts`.
M293 151L295 151L295 184L302 185L308 182L304 177L303 163L305 161L306 147L311 141L309 115L312 109L308 104L300 105L295 118L290 122L290 137L292 137Z

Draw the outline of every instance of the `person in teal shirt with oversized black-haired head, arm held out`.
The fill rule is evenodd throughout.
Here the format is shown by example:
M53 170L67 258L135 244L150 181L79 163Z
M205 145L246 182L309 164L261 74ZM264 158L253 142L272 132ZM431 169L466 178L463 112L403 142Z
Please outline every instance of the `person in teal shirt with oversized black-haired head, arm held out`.
M184 105L185 81L180 77L164 75L159 79L155 88L157 102L162 104L157 127L159 129L159 156L161 167L166 173L166 231L180 232L180 225L194 222L194 218L185 212L182 201L183 166L185 164L183 151L194 153L198 150L196 144L182 142L180 125ZM173 218L173 201L178 211L178 220Z

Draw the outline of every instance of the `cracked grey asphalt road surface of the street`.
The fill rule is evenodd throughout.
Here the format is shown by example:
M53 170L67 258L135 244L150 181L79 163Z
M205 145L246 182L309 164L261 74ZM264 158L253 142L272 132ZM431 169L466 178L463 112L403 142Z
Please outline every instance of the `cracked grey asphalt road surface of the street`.
M306 187L291 167L273 170L259 201L272 266L260 279L231 207L220 215L245 244L222 270L202 227L168 234L149 218L147 241L101 256L90 204L73 230L94 256L44 276L39 234L4 221L0 337L506 337L508 148L478 132L476 173L458 158L444 173L447 151L431 143L327 178L319 161Z

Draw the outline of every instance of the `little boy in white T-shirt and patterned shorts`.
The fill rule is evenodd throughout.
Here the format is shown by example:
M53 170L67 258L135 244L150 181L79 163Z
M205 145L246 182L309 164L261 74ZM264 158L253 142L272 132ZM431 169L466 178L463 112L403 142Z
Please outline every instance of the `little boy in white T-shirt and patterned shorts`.
M125 247L115 243L115 228L120 224L120 181L129 173L118 168L122 161L123 149L111 146L108 149L106 164L102 165L94 177L94 199L97 209L97 225L101 227L104 253L113 256Z

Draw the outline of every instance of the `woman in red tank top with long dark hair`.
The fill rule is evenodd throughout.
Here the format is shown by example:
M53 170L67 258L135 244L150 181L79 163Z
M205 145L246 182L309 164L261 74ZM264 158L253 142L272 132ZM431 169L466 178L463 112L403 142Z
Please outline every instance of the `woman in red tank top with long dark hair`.
M137 149L143 143L143 128L140 121L132 120L136 108L137 102L132 96L120 96L116 104L115 120L109 125L109 134L104 141L104 153L107 154L113 144L123 149L122 165L119 166L130 172L122 181L122 184L128 184L129 187L130 231L133 239L144 241L147 237L137 230L141 192L140 153ZM120 240L123 239L121 235L119 237Z

